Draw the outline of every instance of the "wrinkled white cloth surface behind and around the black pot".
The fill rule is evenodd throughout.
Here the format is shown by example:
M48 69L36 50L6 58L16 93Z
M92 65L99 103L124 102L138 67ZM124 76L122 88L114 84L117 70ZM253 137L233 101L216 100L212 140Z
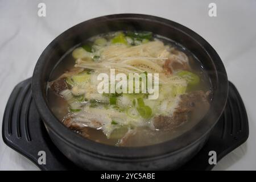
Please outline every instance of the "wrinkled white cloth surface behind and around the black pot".
M46 17L38 16L40 2L46 3ZM156 15L181 23L203 36L220 55L229 80L236 85L245 103L250 125L249 139L225 156L214 169L255 170L256 1L216 0L217 17L212 18L208 15L210 2L0 1L0 125L14 86L32 76L38 57L61 32L84 20L102 15ZM11 150L0 139L0 169L38 170L38 167Z

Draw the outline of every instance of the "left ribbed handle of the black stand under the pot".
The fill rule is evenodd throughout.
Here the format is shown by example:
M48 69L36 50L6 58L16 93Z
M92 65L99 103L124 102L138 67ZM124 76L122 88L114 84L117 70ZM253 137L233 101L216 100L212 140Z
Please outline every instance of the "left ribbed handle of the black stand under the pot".
M78 169L49 139L35 109L31 80L20 82L11 93L3 117L3 141L42 170Z

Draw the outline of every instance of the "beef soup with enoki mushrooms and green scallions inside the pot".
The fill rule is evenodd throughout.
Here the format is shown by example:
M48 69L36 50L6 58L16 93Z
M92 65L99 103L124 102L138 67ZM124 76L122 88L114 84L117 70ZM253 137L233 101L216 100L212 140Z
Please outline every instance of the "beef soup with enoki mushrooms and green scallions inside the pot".
M107 79L108 78L108 79ZM195 126L210 105L203 65L151 32L109 32L70 49L48 82L48 105L83 137L145 146Z

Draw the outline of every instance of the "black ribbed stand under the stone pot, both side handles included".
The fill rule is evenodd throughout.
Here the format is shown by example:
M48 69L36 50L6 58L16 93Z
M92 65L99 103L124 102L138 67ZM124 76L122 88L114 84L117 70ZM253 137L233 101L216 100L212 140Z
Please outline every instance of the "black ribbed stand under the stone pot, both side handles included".
M249 136L245 106L235 86L229 82L229 96L224 113L205 146L181 170L210 170L209 151L215 151L217 162L244 143ZM3 116L2 137L15 151L26 156L42 170L77 170L52 143L36 110L31 92L31 78L15 86ZM46 152L46 164L39 164L39 151Z

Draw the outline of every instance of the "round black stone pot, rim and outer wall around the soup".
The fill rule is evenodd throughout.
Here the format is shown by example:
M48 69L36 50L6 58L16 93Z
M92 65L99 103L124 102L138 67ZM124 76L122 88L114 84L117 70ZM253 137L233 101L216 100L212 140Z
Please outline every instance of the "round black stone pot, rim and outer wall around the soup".
M144 30L165 36L189 49L207 69L213 99L209 112L179 137L144 147L116 147L93 142L65 127L47 105L46 85L61 56L90 36L118 30ZM69 160L86 169L175 169L191 159L207 141L224 110L228 78L217 52L189 28L150 15L118 14L90 19L69 28L49 44L32 76L32 95L53 143Z

